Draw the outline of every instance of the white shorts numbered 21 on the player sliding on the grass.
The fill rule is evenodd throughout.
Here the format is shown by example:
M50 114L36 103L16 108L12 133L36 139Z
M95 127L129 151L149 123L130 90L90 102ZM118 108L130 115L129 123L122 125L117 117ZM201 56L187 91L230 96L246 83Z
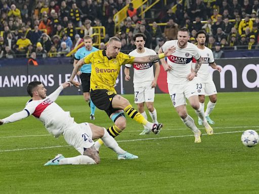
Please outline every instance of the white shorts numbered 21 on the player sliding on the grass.
M63 133L66 142L73 146L81 155L85 149L92 147L95 142L93 133L88 123L73 123Z

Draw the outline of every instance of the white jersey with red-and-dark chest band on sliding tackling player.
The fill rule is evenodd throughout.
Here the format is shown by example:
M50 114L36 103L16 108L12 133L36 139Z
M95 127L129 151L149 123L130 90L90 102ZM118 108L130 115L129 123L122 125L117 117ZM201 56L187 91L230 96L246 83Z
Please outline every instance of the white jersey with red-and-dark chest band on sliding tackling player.
M24 110L28 115L39 119L50 134L58 137L69 125L74 122L69 112L65 112L57 103L52 102L48 96L39 101L28 101Z

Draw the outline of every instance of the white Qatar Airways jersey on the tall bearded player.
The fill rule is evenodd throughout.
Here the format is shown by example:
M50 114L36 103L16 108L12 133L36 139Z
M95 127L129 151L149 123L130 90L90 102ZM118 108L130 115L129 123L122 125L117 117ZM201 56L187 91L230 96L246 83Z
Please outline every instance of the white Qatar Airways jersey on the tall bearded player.
M168 47L176 46L176 52L167 57L167 64L172 67L167 72L167 83L182 84L188 81L187 76L191 73L192 59L198 60L200 53L194 44L187 42L187 46L181 49L178 40L169 40L162 45L164 52Z

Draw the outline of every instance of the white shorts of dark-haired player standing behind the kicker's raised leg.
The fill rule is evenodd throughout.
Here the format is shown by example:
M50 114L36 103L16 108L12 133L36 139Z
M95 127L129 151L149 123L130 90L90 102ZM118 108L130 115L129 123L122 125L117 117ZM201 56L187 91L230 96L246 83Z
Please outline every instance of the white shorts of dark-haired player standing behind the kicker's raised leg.
M135 104L144 102L154 102L155 99L155 88L151 85L143 87L134 87Z

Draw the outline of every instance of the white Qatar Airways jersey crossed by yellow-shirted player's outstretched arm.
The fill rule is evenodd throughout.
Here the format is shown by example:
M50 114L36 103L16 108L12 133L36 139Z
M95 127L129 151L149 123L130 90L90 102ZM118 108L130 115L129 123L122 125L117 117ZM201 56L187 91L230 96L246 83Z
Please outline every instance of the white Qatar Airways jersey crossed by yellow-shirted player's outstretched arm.
M128 55L133 56L133 57L145 57L145 56L149 56L149 55L156 55L156 52L145 47L144 53L138 53L137 49L135 49ZM156 62L158 62L158 61L155 61L154 63L156 63ZM151 85L151 82L154 80L153 63L143 63L143 64L134 63L133 65L126 64L125 66L128 68L131 68L133 66L134 87L143 87L145 85Z

